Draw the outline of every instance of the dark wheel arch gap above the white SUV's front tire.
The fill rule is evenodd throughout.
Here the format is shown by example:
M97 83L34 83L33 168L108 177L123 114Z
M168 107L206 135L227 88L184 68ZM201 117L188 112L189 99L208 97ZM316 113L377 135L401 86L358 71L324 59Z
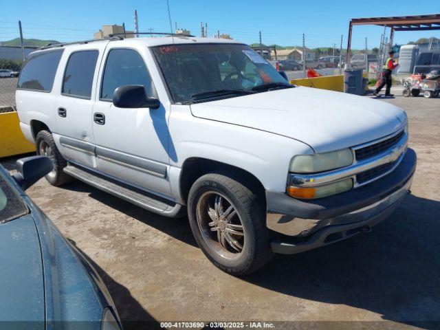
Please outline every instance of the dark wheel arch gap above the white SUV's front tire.
M179 177L181 199L186 203L192 184L202 175L212 172L228 175L248 186L261 198L265 208L265 188L255 175L243 168L203 157L190 157L182 164Z

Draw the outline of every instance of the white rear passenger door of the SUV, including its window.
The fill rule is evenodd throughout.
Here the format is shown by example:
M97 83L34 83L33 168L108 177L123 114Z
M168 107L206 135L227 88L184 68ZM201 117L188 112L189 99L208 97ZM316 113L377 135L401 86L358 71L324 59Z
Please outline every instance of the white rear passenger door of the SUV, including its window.
M63 56L63 75L56 98L57 134L54 135L63 156L74 163L96 168L92 131L94 89L103 45L91 44Z

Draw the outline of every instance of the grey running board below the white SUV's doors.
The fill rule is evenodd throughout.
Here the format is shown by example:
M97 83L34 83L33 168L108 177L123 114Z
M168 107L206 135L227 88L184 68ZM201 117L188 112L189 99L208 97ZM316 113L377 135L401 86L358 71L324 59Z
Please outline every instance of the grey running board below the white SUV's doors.
M145 210L162 214L165 217L181 217L184 215L184 208L182 208L182 205L179 203L174 203L173 201L168 201L161 197L155 198L151 193L108 179L103 175L99 175L89 170L84 170L71 163L69 163L63 171L90 186L94 186L95 188L108 192L111 195L125 199Z

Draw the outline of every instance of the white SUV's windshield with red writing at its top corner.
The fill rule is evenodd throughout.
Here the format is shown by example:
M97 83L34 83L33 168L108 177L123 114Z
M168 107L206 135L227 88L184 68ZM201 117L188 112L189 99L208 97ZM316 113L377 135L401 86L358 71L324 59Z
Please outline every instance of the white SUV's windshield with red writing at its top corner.
M232 94L262 85L289 87L276 69L247 45L166 45L152 50L174 102L190 101L206 92ZM206 98L212 96L206 94Z

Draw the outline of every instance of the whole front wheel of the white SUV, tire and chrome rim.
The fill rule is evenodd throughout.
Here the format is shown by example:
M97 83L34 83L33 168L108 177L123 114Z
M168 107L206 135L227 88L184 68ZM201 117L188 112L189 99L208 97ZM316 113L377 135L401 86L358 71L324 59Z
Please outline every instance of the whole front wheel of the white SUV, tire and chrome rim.
M203 175L190 189L188 217L199 248L224 272L249 274L272 259L261 200L241 182Z

